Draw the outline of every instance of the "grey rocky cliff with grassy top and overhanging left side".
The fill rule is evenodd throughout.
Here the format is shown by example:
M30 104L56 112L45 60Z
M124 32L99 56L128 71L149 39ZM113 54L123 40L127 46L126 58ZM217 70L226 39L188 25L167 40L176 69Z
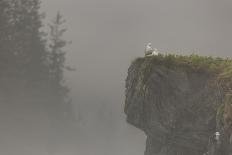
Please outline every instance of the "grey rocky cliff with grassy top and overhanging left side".
M128 69L127 122L147 135L145 155L230 155L230 59L138 58ZM220 132L220 139L215 139Z

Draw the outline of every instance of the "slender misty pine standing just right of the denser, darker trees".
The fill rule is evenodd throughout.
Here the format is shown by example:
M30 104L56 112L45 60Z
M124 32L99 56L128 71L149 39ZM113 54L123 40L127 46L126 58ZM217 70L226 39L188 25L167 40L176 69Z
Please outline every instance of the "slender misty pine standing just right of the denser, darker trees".
M58 12L51 24L49 24L49 77L51 81L51 92L54 96L56 107L62 115L72 117L71 101L68 97L69 89L65 85L65 46L69 43L63 39L66 29L63 27L65 20Z

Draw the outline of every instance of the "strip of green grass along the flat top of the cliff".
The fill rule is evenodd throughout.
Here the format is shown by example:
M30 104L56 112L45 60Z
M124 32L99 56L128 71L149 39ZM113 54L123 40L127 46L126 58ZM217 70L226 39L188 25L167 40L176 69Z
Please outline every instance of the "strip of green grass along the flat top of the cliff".
M206 57L199 55L159 54L137 58L133 63L141 63L144 76L148 76L152 67L163 65L167 68L183 68L186 71L207 72L215 75L215 79L227 89L232 88L232 59Z

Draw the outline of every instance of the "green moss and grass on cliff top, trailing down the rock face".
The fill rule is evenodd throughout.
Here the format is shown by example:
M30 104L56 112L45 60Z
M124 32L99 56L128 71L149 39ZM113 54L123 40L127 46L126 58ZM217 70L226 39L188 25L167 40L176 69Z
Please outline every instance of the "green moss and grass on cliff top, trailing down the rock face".
M137 58L133 63L140 64L139 84L137 89L144 92L146 81L151 75L153 67L164 66L172 69L183 69L185 72L203 72L208 73L214 81L223 89L225 94L224 101L217 107L216 122L217 126L223 126L223 113L225 103L232 102L232 60L222 59L219 57L205 57L198 55L182 56L182 55L162 55ZM132 64L133 65L133 64Z

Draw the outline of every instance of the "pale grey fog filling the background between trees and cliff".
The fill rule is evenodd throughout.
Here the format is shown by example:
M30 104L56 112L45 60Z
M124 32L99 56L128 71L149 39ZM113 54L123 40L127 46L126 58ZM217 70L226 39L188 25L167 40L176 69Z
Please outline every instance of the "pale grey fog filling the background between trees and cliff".
M42 0L48 23L67 20L65 74L78 139L57 155L141 155L145 134L126 123L124 84L133 59L151 42L161 53L230 57L230 0ZM46 154L39 147L31 148Z

